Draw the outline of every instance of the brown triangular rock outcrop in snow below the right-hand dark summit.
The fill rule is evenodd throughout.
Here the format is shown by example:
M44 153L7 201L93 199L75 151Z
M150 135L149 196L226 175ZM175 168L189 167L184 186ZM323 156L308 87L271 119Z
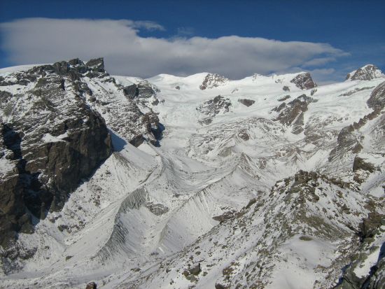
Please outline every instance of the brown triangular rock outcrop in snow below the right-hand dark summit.
M303 132L304 112L307 111L307 106L314 99L302 94L287 105L283 102L280 106L273 109L273 111L280 112L275 120L278 120L283 125L293 125L293 134L300 134Z

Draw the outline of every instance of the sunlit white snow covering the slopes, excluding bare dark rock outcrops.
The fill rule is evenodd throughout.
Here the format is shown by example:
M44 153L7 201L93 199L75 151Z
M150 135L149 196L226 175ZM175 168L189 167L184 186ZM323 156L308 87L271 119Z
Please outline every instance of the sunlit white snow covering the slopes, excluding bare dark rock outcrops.
M27 68L1 69L0 73ZM322 184L325 197L307 204L308 214L325 218L327 223L330 220L329 225L341 232L339 237L318 235L315 228L314 236L305 241L301 234L280 239L280 213L294 223L295 207L286 208L283 197L269 195L269 190L298 169L350 181L351 156L328 162L330 151L343 127L372 111L366 101L385 79L316 87L311 96L316 102L304 113L304 127L305 132L312 129L323 138L311 143L303 132L293 134L290 127L274 121L278 113L272 109L282 103L279 99L290 95L288 103L301 94L311 94L311 90L300 90L290 83L295 74L256 75L200 90L205 76L207 73L184 78L162 74L148 79L160 90L156 95L160 103L149 105L165 125L160 147L143 143L135 148L111 130L116 152L90 179L83 180L62 211L50 213L38 223L35 234L20 234L25 246L37 246L36 254L25 261L20 272L1 276L0 288L85 288L89 281L96 281L98 288L188 288L195 283L186 279L183 271L198 262L202 272L197 288L226 283L223 269L228 267L232 268L232 280L245 288L252 284L255 288L258 284L265 288L326 288L323 286L334 284L336 280L328 281L325 276L332 270L336 272L331 276L338 276L344 265L338 259L339 250L353 248L353 232L342 223L358 226L367 214L365 195L384 197L385 148L376 145L379 136L374 134L378 120L360 129L365 136L360 155L381 170L367 178L360 193L342 190L345 197L341 202L356 215L334 216L338 206L334 208L330 200L337 199L340 189L328 184ZM141 81L114 78L121 85ZM102 95L100 87L106 91L103 97L108 97L107 92L115 101L123 97L111 83L92 79L87 83L95 97ZM283 91L283 85L290 91ZM367 88L342 96L363 87ZM12 92L13 87L6 90ZM202 125L200 120L207 115L197 108L218 95L231 102L230 110ZM238 99L255 102L244 106ZM113 121L107 115L107 125ZM248 134L247 140L241 138L242 132ZM45 135L43 141L63 141L64 137ZM0 164L0 168L6 166ZM251 206L253 212L244 210L244 216L230 222L213 219L228 211L241 211L253 198L258 199ZM167 210L152 213L151 204L161 204ZM68 230L61 232L60 225ZM271 255L264 255L267 251ZM365 276L378 253L374 251L357 273ZM269 272L248 280L246 276L256 265L269 268Z

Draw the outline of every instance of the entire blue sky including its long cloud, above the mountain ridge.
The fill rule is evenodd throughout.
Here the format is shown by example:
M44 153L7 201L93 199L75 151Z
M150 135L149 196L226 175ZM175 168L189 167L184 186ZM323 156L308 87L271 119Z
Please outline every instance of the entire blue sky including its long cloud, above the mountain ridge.
M307 70L328 83L367 63L385 70L384 15L385 1L0 1L0 66L89 51L111 73ZM81 35L99 39L83 43Z

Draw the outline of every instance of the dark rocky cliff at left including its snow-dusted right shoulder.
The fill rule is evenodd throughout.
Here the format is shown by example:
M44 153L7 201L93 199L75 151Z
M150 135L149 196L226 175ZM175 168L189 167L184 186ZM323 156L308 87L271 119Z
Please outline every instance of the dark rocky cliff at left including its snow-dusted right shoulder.
M120 99L120 106L111 99L104 101L104 91L97 86L101 82L122 94L125 91L106 73L102 58L87 63L71 59L1 76L3 255L15 254L18 232L33 232L36 220L62 209L80 180L111 155L106 120L133 144L145 139L157 143L158 116L142 113L127 97ZM138 90L139 97L152 94L146 85L139 85ZM121 114L113 114L118 109L125 113L120 121ZM111 117L104 120L102 115Z

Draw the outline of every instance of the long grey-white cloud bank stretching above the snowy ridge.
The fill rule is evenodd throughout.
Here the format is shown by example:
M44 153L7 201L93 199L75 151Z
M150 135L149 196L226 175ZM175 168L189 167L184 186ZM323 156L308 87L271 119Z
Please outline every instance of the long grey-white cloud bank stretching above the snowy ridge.
M242 78L323 65L346 55L328 43L240 36L154 38L139 36L139 29L164 27L148 21L48 18L0 24L2 49L15 64L104 57L111 74L142 77L210 71Z

